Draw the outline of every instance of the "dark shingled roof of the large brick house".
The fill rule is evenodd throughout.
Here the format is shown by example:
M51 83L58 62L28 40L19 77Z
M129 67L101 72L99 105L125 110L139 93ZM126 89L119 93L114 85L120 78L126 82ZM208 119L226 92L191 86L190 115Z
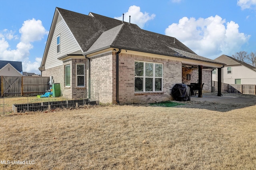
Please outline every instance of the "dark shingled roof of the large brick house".
M174 37L142 30L136 24L122 22L92 12L89 15L84 15L56 8L54 18L57 18L59 14L72 32L84 55L114 47L222 64L197 55ZM54 21L51 27L53 25ZM41 67L45 62L46 51Z

